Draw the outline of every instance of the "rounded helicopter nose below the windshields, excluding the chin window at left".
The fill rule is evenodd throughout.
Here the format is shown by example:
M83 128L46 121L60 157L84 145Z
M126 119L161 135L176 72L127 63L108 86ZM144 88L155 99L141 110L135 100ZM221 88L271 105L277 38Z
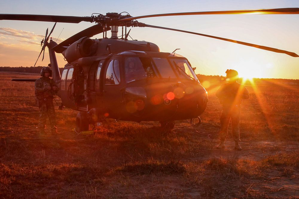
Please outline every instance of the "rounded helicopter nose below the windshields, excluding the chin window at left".
M147 111L155 120L180 120L194 118L204 112L208 94L201 84L159 83L148 86Z

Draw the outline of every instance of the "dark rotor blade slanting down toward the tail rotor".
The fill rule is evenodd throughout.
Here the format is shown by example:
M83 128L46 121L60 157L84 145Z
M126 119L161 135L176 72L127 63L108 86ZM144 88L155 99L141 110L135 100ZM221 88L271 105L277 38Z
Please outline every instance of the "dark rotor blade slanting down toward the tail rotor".
M106 28L106 31L111 30L110 27ZM92 37L94 35L97 35L99 33L103 33L103 26L101 24L96 24L94 26L91 26L89 28L86 28L85 30L82 30L81 32L71 36L70 38L67 38L66 40L62 41L60 44L55 46L53 50L56 53L62 53L64 49L60 49L63 46L69 46L70 44L74 43L75 41L78 41L82 37Z

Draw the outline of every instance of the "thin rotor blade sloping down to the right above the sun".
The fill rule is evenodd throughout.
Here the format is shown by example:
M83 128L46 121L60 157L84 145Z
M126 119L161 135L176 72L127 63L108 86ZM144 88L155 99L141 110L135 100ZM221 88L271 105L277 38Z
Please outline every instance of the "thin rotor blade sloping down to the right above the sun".
M293 53L293 52L289 52L289 51L286 51L286 50L280 50L280 49L276 49L276 48L271 48L271 47L267 47L267 46L260 46L260 45L257 45L257 44L246 43L246 42L243 42L243 41L237 41L237 40L233 40L233 39L226 39L226 38L222 38L222 37L205 35L205 34L201 34L201 33L194 33L194 32L190 32L190 31L186 31L186 30L178 30L178 29L173 29L173 28L152 26L152 25L149 25L149 24L144 24L144 25L145 25L145 27L159 28L159 29L165 29L165 30L173 30L173 31L178 31L178 32L183 32L183 33L190 33L190 34L194 34L194 35L200 35L200 36L210 37L210 38L214 38L214 39L220 39L220 40L223 40L223 41L229 41L229 42L233 42L233 43L237 43L237 44L242 44L242 45L245 45L245 46L260 48L260 49L263 49L263 50L269 50L269 51L272 51L272 52L275 52L275 53L284 53L284 54L290 55L292 57L299 57L299 55L297 55L296 53Z

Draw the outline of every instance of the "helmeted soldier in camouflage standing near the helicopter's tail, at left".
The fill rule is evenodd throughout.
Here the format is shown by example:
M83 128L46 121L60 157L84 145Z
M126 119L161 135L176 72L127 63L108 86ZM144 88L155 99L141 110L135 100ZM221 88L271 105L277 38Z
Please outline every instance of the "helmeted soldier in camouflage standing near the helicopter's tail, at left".
M50 64L49 64L50 65ZM41 134L45 133L47 115L51 125L51 133L56 135L56 116L53 104L53 95L56 95L58 87L49 77L52 77L52 70L50 67L43 67L40 72L41 78L35 81L35 96L36 104L39 107L39 131Z

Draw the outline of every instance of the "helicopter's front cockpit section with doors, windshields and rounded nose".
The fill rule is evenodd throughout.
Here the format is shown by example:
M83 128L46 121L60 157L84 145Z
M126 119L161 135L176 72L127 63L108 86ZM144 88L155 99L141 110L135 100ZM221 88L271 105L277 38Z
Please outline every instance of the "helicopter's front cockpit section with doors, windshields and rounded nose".
M206 90L181 55L123 51L106 63L99 98L109 99L100 104L112 118L123 108L122 120L178 120L197 117L206 107Z

